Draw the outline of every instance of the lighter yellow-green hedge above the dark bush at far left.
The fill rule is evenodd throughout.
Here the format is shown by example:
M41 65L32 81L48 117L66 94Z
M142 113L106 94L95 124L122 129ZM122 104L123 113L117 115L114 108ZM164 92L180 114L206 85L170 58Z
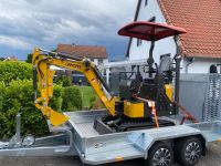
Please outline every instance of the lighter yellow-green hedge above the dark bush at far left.
M0 61L0 81L9 84L12 80L32 79L32 65L25 62Z

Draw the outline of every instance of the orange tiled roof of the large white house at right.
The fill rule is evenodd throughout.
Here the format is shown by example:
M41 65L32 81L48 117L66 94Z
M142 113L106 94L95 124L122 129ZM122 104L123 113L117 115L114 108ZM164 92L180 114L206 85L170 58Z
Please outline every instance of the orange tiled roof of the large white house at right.
M182 27L186 56L221 58L221 0L158 0L168 24Z

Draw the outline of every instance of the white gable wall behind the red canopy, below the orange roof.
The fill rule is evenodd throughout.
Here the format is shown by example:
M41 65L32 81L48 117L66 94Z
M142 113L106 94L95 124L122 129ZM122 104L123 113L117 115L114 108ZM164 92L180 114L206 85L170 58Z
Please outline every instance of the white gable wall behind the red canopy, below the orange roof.
M148 6L145 7L145 0L141 2L139 10L138 21L148 21L152 17L156 17L156 22L166 23L164 14L158 6L157 0L148 0ZM147 59L149 55L150 42L144 41L143 44L137 46L137 39L133 39L129 50L129 60ZM161 54L170 53L171 56L176 53L176 44L172 38L162 39L157 41L154 50L155 62L159 62Z

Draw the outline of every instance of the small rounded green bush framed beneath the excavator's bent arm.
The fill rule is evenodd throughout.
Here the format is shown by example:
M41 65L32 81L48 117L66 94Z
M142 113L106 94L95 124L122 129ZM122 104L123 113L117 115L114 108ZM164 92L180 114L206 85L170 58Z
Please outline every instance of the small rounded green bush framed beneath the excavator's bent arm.
M76 86L64 87L62 98L63 111L82 110L82 94Z

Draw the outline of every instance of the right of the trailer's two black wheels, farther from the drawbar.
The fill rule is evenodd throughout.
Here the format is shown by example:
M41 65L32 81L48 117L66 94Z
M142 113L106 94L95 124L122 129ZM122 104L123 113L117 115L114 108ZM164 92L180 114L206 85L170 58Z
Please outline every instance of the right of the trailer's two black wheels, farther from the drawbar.
M179 139L175 145L177 163L183 166L196 165L202 156L202 144L197 137Z

